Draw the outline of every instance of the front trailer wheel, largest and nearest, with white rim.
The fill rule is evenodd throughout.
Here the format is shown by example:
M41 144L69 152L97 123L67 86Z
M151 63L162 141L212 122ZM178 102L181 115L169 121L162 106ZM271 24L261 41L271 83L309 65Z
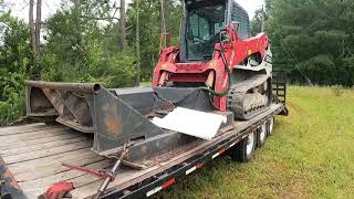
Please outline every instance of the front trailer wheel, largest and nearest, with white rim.
M244 137L240 143L230 148L229 156L235 161L247 163L249 161L256 149L257 134L251 133Z

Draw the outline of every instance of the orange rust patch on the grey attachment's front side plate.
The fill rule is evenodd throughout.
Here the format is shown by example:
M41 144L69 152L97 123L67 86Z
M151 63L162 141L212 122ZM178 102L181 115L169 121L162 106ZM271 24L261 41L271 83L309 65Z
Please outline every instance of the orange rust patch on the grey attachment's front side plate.
M117 115L117 107L107 106L105 111L105 124L107 127L107 133L111 135L118 135L121 132L121 121Z

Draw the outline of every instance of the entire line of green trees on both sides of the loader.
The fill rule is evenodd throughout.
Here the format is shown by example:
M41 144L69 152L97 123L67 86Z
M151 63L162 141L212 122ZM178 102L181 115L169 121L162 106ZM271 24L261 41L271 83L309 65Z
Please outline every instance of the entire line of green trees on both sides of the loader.
M23 115L24 80L136 86L150 81L160 33L178 44L183 0L62 0L42 19L45 1L28 0L23 21L0 0L0 124ZM353 10L352 0L267 0L251 32L270 35L290 83L353 86Z

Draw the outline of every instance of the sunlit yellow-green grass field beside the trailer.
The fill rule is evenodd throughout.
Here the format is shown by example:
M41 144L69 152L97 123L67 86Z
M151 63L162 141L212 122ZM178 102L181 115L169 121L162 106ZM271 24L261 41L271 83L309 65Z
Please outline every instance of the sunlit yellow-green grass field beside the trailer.
M156 198L354 198L354 91L289 88L290 116L248 164L220 157Z

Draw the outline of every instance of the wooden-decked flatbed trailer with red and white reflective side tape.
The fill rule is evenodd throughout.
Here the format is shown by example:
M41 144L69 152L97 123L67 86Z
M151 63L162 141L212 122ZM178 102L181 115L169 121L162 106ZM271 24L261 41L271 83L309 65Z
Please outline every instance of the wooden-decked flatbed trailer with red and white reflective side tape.
M270 118L285 114L282 103L250 121L236 121L212 140L197 140L154 158L147 169L122 167L104 198L142 198L178 182L237 145ZM108 169L114 161L91 150L93 137L62 125L43 123L0 128L0 177L2 195L38 198L59 181L73 182L73 198L93 197L103 179L72 170L62 163L91 169Z

